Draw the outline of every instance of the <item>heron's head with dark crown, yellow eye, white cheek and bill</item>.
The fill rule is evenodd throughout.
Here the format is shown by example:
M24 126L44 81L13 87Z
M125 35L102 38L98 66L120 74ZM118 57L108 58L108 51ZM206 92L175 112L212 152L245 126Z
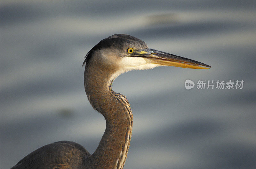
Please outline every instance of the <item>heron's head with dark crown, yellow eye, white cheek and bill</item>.
M204 63L148 48L145 42L126 34L115 34L101 40L87 53L84 64L93 61L117 75L130 70L150 69L157 66L175 66L209 69ZM87 63L86 63L87 64Z

